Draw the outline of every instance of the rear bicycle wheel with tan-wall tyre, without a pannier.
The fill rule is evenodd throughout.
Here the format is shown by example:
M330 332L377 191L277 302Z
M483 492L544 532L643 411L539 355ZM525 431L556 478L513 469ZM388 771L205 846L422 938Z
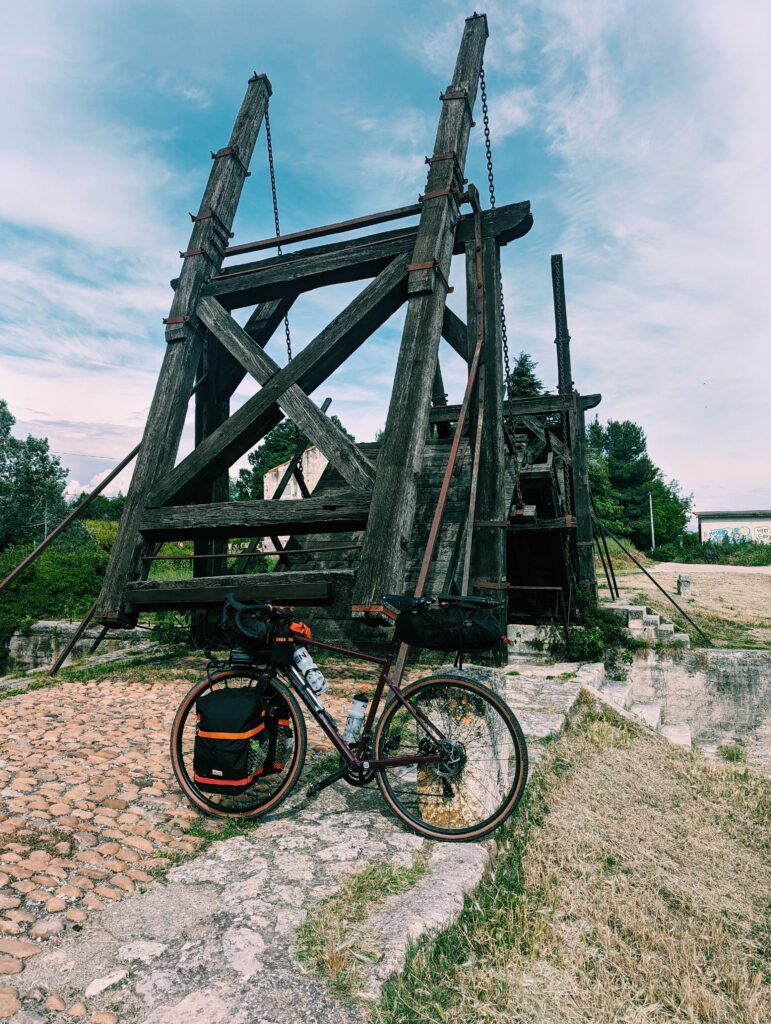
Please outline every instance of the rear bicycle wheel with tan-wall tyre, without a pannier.
M480 729L486 730L490 736L496 729L499 731L495 733L497 738L489 748L484 745L483 732L472 746L471 755L464 748L466 761L454 780L442 779L434 765L380 769L378 785L386 803L411 828L428 839L471 842L488 836L514 813L527 782L527 744L516 716L502 697L470 678L428 676L405 686L401 695L439 725L448 738L452 738L451 718L456 714L454 700L463 719L468 720L468 725L464 720L461 724L467 728L470 737L480 736ZM439 709L438 712L430 707L431 700ZM473 719L472 713L476 716ZM437 722L437 718L441 721ZM500 724L505 726L505 734L500 731ZM375 731L376 759L408 753L401 745L404 726L410 733L408 745L412 741L415 753L420 753L419 744L425 744L428 739L426 730L416 723L398 700L393 700L386 707ZM473 754L476 750L481 752L481 756ZM484 764L489 768L480 768ZM469 803L470 795L475 790L480 792L481 771L488 772L490 777L497 774L499 786L502 778L510 778L510 782L503 786L500 800L494 790L481 791L478 801L480 819L464 821L461 813ZM449 784L445 785L445 781ZM447 790L452 790L452 796L447 795ZM483 806L485 801L486 807Z

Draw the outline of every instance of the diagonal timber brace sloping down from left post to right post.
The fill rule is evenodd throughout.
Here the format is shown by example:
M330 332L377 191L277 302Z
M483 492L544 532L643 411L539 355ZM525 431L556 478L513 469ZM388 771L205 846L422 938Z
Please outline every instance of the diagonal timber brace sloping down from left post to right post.
M216 299L202 298L198 306L198 315L258 384L266 385L268 381L277 377L281 372L279 364L262 349L250 343L246 331L239 327ZM297 384L291 384L287 388L279 398L279 406L318 446L347 483L361 490L372 487L375 481L375 468L370 460L328 416L325 416Z

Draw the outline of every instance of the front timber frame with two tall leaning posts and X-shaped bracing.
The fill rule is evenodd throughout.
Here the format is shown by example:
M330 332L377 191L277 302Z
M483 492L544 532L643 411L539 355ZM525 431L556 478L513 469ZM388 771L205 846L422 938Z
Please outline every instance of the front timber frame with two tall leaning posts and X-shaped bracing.
M223 263L269 248L277 240L230 246L232 224L252 154L270 96L264 75L249 80L228 144L212 154L209 182L180 256L166 325L166 352L141 451L118 537L99 596L96 617L108 626L132 626L143 608L205 608L230 587L270 596L280 574L227 575L229 538L279 534L363 530L351 603L358 613L380 605L384 592L402 588L405 548L413 530L416 492L430 416L446 408L438 347L441 337L462 358L473 348L466 325L445 307L454 255L467 267L479 255L487 286L482 312L485 341L484 410L480 426L479 484L475 515L480 522L505 515L501 335L498 319L500 248L526 233L528 203L481 213L475 241L473 216L463 213L462 193L482 55L487 38L483 14L465 24L453 80L442 93L428 178L417 206L357 218L350 224L296 232L295 244L325 233L358 229L400 216L418 216L397 227L241 264ZM265 346L298 297L326 285L365 282L359 294L287 366ZM469 297L474 323L476 293ZM385 428L377 462L352 442L309 397L403 303L406 314ZM230 312L255 307L245 326ZM230 399L246 375L259 389L238 411ZM187 404L196 404L195 447L177 463ZM334 495L293 502L229 502L228 469L284 417L317 445L341 478ZM448 436L439 427L439 437ZM470 429L475 430L472 415ZM276 506L283 506L279 508ZM194 578L178 586L145 583L157 546L168 540L195 542ZM506 580L505 545L499 535L472 552L471 575ZM343 573L345 575L345 573ZM352 573L348 572L347 577ZM324 573L282 575L286 600L325 600ZM312 578L312 579L311 579ZM332 585L331 583L329 584Z

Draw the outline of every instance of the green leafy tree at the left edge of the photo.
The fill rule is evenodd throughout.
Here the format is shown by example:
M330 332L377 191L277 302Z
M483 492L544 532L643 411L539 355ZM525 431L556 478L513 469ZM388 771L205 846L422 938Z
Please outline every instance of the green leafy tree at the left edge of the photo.
M0 399L0 551L41 541L67 512L67 470L45 437L14 437L15 422Z

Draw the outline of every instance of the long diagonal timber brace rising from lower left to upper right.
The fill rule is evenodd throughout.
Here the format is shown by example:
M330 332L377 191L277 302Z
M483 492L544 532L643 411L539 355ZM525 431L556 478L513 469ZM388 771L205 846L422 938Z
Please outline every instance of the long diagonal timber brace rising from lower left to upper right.
M229 420L183 459L153 489L148 504L157 506L189 500L195 495L200 479L216 475L223 466L231 466L275 425L281 419L277 402L286 396L293 384L298 385L301 391L307 392L324 383L330 374L334 373L401 305L405 292L406 259L408 256L404 254L393 260L288 366L274 373L257 394L246 401ZM213 306L207 302L205 308L211 312ZM232 332L229 332L228 337L230 341L234 340ZM254 348L250 351L255 358L264 354L258 353ZM301 416L308 414L307 407L300 408L300 399L295 397L289 401L293 408L293 417L297 413ZM326 423L318 422L319 418L320 420L326 418L322 417L318 410L315 412L317 419L313 428L316 433L322 433L324 428L327 434ZM302 429L305 429L304 424ZM310 434L310 430L306 432ZM346 444L348 443L346 441ZM338 451L349 454L349 449L344 447L342 441L338 444ZM361 466L361 463L358 465ZM355 472L355 465L350 460L346 462L346 472L349 475ZM356 486L370 486L371 477L366 467L357 476L359 482Z

